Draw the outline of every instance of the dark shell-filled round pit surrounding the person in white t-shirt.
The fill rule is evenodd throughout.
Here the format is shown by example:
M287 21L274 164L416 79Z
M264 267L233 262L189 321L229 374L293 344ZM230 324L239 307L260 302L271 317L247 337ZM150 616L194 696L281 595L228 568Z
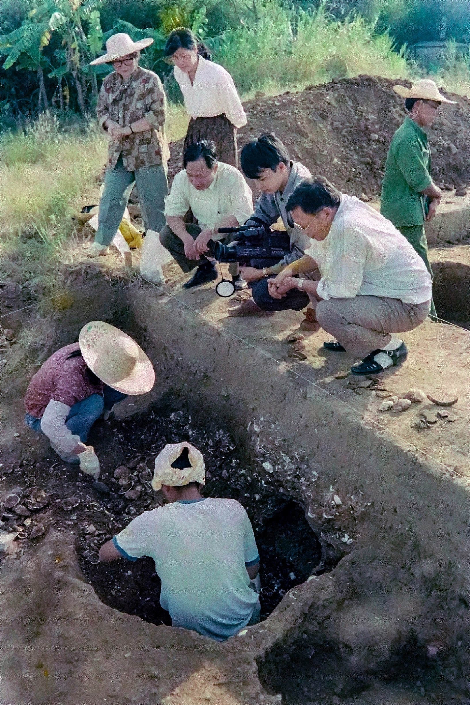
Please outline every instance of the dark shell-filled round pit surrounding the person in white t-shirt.
M207 483L202 490L204 496L230 497L245 506L254 525L261 559L261 619L276 608L288 590L326 570L321 563L321 544L305 519L304 508L280 494L276 484L260 490L256 479L259 469L243 462L226 431L195 427L190 415L181 410L149 410L144 415L113 422L109 429L103 424L100 430L97 447L106 443L107 434L114 441L107 442L110 468L101 477L110 494L94 493L95 501L107 514L103 515L104 521L94 520L91 529L86 520L77 517L81 527L77 552L83 574L107 605L152 624L171 625L168 613L159 605L161 582L153 560L97 563L99 546L106 538L128 524L133 515L159 505L161 498L151 489L151 472L147 468L153 468L156 455L168 442L190 441L202 451ZM142 491L134 502L119 496L121 486L113 477L113 465L122 468L126 463L130 466L130 482Z

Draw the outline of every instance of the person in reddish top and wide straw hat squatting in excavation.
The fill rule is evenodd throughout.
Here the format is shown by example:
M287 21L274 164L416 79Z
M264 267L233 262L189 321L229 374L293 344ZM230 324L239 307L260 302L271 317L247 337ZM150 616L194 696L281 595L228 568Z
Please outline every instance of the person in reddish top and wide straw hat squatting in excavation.
M129 394L144 394L155 382L147 355L130 336L104 321L91 321L78 343L57 350L32 377L25 397L26 422L44 433L65 462L99 476L93 446L85 445L99 417Z

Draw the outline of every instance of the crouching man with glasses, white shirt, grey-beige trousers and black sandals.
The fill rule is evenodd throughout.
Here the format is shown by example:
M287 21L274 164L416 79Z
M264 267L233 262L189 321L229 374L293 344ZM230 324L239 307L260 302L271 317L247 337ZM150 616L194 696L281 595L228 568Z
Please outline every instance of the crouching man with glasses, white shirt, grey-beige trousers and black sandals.
M403 362L407 346L397 333L426 319L432 297L431 276L412 245L380 213L323 178L300 184L286 208L312 244L269 280L271 296L306 291L319 326L336 338L323 347L362 358L353 374ZM296 278L315 266L318 280Z

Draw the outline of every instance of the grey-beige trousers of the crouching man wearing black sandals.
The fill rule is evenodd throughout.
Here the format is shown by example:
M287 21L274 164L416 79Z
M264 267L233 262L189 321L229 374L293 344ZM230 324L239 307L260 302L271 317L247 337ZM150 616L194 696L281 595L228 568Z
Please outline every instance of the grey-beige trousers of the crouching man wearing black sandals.
M428 316L430 308L431 300L422 304L404 304L400 299L356 296L354 299L319 301L316 319L348 353L363 358L387 345L387 334L417 328Z

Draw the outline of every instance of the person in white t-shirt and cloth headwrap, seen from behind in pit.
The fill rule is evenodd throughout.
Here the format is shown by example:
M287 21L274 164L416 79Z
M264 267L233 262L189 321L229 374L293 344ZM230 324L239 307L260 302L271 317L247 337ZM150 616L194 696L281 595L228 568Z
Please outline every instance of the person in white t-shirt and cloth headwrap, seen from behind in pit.
M133 519L101 546L99 559L153 558L173 627L223 642L259 622L259 553L245 509L235 499L202 497L204 478L197 448L165 446L152 487L166 505Z

